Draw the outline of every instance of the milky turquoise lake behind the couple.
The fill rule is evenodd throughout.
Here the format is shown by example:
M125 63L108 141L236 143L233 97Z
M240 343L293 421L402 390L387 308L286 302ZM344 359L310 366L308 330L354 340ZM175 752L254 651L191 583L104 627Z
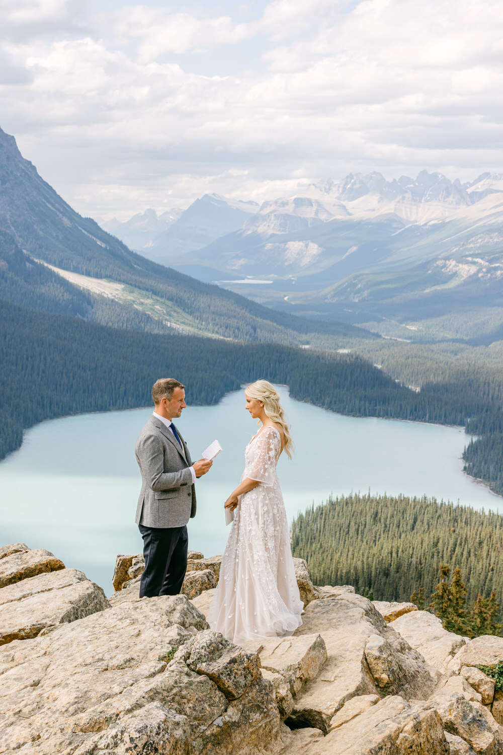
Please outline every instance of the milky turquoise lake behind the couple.
M283 455L278 464L289 521L330 494L358 491L503 511L503 498L463 473L468 437L461 428L345 417L280 390L296 443L293 461ZM2 544L47 548L112 593L116 554L142 550L134 524L140 492L134 445L151 413L81 414L28 430L19 451L0 462ZM244 447L256 432L244 390L216 406L188 406L176 425L194 460L214 439L222 444L212 470L198 480L198 514L189 522L189 547L206 556L222 553L223 501L238 485Z

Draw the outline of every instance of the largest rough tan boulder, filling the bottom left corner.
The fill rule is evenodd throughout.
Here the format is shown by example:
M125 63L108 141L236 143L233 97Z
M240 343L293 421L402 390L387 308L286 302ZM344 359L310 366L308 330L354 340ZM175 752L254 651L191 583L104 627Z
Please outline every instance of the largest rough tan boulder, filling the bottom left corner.
M0 751L259 755L282 747L275 688L258 657L207 631L183 595L127 602L2 646L0 676Z

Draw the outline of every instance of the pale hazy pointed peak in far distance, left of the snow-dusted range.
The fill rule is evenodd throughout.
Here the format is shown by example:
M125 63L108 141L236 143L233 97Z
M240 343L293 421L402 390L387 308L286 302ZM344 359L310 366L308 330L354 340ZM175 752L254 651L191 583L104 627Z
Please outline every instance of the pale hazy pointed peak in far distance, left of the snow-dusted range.
M115 220L102 226L130 248L164 264L177 254L200 249L238 230L258 209L256 202L233 202L218 194L205 194L185 211L171 210L158 217L151 209L126 223Z

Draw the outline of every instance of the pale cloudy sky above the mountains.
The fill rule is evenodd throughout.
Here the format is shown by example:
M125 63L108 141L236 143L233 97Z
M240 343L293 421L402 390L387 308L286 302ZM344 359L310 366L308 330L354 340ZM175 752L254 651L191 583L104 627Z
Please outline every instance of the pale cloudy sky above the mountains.
M503 171L501 0L0 0L0 126L79 212Z

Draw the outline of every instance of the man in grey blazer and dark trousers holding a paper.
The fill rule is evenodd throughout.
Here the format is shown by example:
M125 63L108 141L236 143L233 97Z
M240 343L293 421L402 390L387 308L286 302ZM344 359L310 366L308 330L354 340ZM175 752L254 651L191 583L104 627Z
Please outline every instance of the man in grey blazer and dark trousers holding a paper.
M152 387L155 411L136 441L142 489L136 524L143 538L145 571L140 598L177 595L187 570L186 524L195 516L195 480L213 464L192 464L186 442L173 424L186 408L185 386L172 377Z

